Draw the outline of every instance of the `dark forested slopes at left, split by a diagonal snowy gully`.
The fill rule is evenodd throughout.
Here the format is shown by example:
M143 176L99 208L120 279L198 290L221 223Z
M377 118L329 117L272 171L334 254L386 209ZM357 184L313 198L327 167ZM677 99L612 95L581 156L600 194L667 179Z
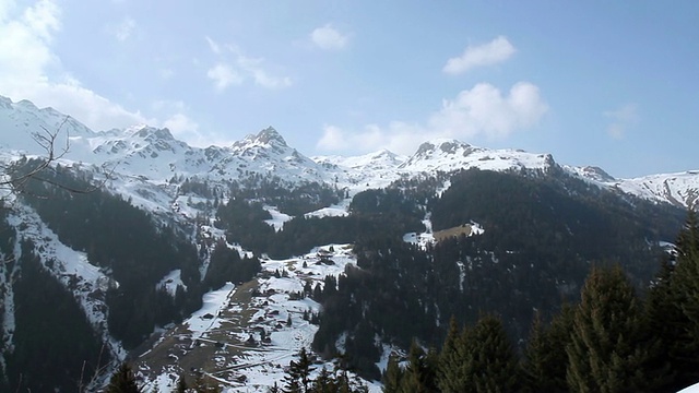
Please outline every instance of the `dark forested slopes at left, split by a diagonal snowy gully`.
M37 163L27 162L25 170L33 165ZM198 252L187 235L193 226L158 224L130 201L92 184L88 172L57 166L28 181L21 198L61 242L85 252L90 263L110 277L105 293L98 289L91 296L104 297L109 334L127 349L141 345L156 326L181 322L201 307L205 291L228 281L248 281L260 271L257 258L240 258L235 250L212 245L209 273L202 277L208 251ZM70 391L86 384L96 368L114 360L108 344L87 322L72 293L34 255L35 246L23 240L21 228L8 225L9 210L0 212L0 249L10 261L4 272L5 279L14 282L16 324L13 345L5 346L8 364L0 386ZM22 241L16 260L14 239ZM175 270L180 271L183 286L170 294L158 283Z

